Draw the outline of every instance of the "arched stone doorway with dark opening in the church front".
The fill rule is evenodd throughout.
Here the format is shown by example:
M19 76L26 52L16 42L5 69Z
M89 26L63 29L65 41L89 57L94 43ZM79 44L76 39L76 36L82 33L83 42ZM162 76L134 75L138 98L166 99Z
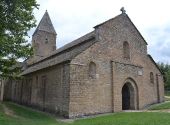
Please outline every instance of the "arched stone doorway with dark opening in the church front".
M122 86L122 110L139 109L138 87L132 78L127 78Z

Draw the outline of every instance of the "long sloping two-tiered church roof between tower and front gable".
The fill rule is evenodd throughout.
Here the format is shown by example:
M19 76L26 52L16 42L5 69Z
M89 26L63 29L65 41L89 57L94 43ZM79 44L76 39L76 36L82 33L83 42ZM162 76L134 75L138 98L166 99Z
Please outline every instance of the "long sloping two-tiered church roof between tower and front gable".
M65 61L69 61L74 58L76 55L81 53L83 50L86 50L91 45L96 42L95 32L92 31L71 43L64 45L63 47L57 49L50 56L39 60L37 63L30 65L26 70L24 70L21 75L26 75L50 66L54 66Z

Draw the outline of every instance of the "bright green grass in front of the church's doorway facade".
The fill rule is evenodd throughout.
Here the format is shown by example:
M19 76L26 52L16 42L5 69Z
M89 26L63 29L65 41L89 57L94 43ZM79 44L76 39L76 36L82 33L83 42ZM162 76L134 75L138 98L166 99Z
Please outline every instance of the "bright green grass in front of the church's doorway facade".
M75 121L74 125L170 125L169 113L126 112Z

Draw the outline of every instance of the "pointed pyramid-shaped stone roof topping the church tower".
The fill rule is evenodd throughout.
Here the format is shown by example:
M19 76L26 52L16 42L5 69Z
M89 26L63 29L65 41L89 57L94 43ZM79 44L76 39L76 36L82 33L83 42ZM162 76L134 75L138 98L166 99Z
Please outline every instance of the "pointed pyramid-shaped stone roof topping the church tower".
M35 30L34 34L38 30L46 31L46 32L49 32L49 33L56 34L55 29L53 27L53 24L51 22L51 19L50 19L50 16L49 16L47 10L46 10L44 16L42 17L40 23L38 24L37 29Z

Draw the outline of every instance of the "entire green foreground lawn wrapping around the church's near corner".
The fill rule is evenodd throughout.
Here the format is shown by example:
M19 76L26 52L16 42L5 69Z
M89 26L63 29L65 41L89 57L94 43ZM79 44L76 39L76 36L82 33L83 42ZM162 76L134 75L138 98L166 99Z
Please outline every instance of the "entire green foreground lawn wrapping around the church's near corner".
M0 104L0 125L170 125L170 113L122 112L63 123L54 116L5 102Z

